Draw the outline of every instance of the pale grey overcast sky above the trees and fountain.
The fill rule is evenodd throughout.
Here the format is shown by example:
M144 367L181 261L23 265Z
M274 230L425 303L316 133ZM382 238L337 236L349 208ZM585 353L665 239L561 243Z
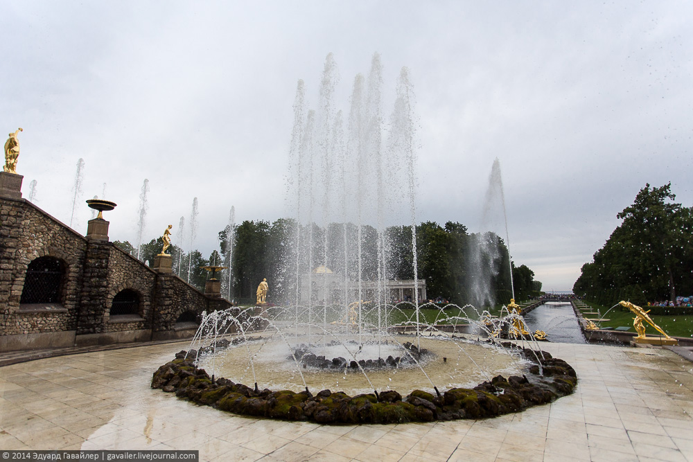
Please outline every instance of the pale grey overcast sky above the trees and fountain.
M84 159L82 233L105 183L109 237L136 242L144 179L146 240L198 197L206 256L231 206L237 222L286 216L297 80L313 105L328 53L345 110L374 52L385 114L410 69L419 221L479 231L500 159L511 255L545 290L572 289L646 183L693 204L688 1L4 1L0 17L22 192L36 180L35 203L69 223Z

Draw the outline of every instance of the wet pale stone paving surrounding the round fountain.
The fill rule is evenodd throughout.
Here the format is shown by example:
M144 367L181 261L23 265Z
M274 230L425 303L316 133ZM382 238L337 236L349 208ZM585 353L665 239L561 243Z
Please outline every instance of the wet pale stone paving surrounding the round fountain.
M693 364L669 350L545 343L575 393L485 420L328 426L245 418L150 389L187 346L0 367L4 450L200 450L202 461L693 461Z

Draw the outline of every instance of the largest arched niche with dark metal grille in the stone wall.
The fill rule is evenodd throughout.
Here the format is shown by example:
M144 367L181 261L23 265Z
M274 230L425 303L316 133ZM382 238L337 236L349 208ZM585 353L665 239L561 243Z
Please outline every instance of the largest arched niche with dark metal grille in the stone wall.
M64 267L60 260L41 257L29 263L19 303L60 303Z

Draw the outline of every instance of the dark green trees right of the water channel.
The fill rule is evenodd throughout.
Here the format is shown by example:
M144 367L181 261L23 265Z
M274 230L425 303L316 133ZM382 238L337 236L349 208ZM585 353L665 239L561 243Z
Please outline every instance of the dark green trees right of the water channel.
M640 189L616 215L623 221L604 247L582 266L573 292L601 305L693 294L693 208L674 199L671 183Z

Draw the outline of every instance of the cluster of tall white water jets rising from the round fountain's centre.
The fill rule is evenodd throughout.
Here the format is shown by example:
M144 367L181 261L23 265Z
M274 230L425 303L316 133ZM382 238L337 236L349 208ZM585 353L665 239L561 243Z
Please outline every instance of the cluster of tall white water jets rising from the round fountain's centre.
M391 276L385 231L388 224L401 219L401 213L389 208L402 199L415 202L411 85L403 69L393 113L394 130L390 132L392 139L384 150L382 74L380 55L376 53L368 77L358 74L353 80L345 121L335 107L338 75L333 57L328 55L317 110L306 109L304 83L299 81L289 151L288 204L295 217L290 265L295 274L291 283L295 320L299 321L299 313L303 312L310 324L317 315L325 330L331 305L341 305L342 317L347 317L347 306L355 302L360 340L365 302L377 308L378 327L382 328L380 310L387 302L387 281ZM392 159L404 163L411 187L402 188L401 178L388 171ZM406 213L413 213L415 220L415 206L407 207ZM331 289L335 281L342 281L337 283L337 290ZM418 297L416 287L416 306Z

